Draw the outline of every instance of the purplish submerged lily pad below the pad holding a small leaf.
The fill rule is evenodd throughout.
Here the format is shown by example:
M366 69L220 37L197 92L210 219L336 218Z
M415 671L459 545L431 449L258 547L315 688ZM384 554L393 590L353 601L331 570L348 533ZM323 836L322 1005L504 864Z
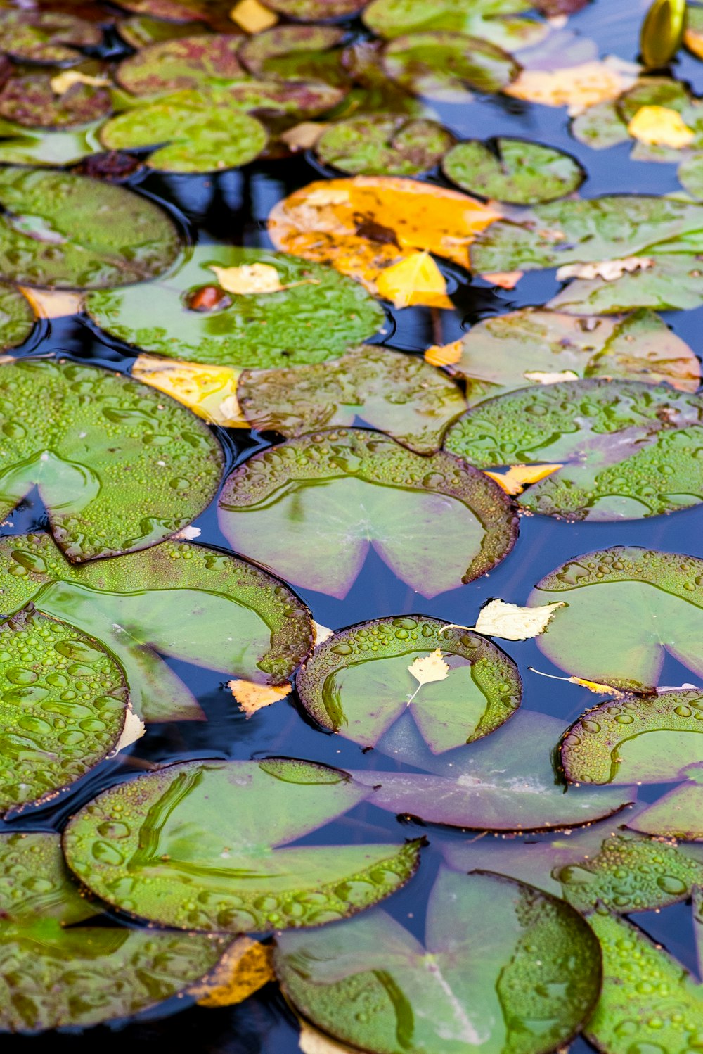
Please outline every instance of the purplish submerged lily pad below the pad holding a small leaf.
M549 831L611 816L637 787L574 787L559 782L553 750L563 723L519 709L485 739L434 755L409 715L380 741L393 761L421 772L358 772L373 803L425 823L473 831Z

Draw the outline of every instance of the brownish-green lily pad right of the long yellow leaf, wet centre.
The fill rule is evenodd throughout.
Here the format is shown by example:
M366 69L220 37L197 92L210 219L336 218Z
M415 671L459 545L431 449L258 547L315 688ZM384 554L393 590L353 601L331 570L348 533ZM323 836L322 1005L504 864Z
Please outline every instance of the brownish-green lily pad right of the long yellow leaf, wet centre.
M297 438L360 419L419 454L439 450L466 406L457 385L421 358L371 345L332 363L245 370L237 397L258 431Z

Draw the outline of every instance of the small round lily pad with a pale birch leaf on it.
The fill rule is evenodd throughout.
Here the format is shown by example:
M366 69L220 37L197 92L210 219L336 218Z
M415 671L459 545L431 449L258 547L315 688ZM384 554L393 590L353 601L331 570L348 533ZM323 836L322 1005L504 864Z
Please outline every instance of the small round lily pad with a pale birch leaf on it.
M445 625L402 616L340 630L298 675L303 706L323 727L362 746L378 743L414 694L409 711L433 752L487 736L520 705L517 667L485 638ZM436 648L449 672L419 687L408 666Z

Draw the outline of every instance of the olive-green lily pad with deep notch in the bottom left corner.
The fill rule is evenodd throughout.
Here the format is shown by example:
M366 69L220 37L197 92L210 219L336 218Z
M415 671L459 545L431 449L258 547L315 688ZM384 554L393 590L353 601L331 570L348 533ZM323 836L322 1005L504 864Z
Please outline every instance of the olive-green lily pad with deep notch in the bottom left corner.
M226 950L208 934L79 925L79 895L53 832L0 835L0 1031L123 1019L187 990Z

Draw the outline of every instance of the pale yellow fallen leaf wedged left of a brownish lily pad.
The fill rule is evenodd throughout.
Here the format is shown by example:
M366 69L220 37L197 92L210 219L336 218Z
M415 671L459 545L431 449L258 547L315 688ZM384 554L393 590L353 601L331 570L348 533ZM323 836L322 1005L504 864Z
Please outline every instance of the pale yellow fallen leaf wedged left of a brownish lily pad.
M204 366L140 355L133 377L165 392L187 406L199 417L223 428L248 428L237 401L237 380L242 371L234 366Z

